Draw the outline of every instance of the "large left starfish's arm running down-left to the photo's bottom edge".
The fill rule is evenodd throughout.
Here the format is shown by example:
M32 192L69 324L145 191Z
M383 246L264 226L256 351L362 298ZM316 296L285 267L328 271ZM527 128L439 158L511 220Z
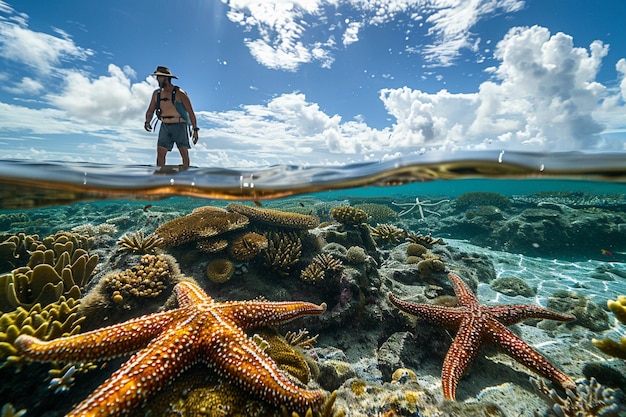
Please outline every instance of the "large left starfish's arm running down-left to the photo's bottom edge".
M197 362L195 343L189 330L168 330L131 357L67 416L125 414Z

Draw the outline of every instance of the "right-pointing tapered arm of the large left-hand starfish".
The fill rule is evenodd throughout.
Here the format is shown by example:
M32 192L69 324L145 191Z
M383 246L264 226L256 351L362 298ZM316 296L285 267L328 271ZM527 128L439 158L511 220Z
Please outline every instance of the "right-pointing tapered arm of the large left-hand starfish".
M284 323L304 315L322 314L326 303L321 305L301 301L227 301L215 307L220 314L229 316L237 326L251 329Z

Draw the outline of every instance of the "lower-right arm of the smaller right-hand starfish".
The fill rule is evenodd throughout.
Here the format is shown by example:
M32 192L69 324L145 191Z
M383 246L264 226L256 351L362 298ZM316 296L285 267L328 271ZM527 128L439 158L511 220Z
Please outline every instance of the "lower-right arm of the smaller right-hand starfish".
M490 322L490 327L489 341L492 344L533 372L548 378L563 387L563 389L571 389L573 392L576 392L576 384L569 376L558 370L545 357L522 339L515 336L509 329L496 321Z

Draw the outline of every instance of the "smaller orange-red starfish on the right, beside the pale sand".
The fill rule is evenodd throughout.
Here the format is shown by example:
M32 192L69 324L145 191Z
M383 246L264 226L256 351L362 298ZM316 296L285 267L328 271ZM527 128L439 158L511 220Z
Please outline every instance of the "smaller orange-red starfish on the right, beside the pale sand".
M445 398L455 399L459 380L478 354L480 346L485 343L499 347L522 365L559 384L563 389L576 391L576 384L570 377L505 327L529 318L570 321L575 319L573 315L523 304L481 305L458 275L450 272L448 276L460 307L411 303L389 293L389 300L400 310L448 329L458 330L443 361L441 385Z

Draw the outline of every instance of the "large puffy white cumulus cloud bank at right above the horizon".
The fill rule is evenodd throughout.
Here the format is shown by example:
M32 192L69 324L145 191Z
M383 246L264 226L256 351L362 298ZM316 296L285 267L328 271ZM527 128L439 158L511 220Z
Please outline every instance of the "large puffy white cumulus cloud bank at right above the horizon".
M477 93L383 89L381 100L397 120L394 144L593 148L605 128L594 111L609 98L595 81L607 51L599 41L575 47L571 36L539 26L513 28L496 46L493 79Z

